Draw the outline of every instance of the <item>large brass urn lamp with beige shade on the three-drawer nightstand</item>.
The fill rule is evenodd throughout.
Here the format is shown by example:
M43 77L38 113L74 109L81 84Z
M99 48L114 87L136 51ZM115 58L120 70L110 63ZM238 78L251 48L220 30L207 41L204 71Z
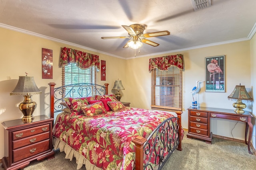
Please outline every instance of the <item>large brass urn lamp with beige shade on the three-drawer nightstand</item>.
M11 96L23 95L24 101L20 103L19 109L23 113L22 121L24 123L32 122L34 120L33 112L36 109L36 102L33 102L32 95L42 93L34 81L34 77L19 76L18 84L10 93Z

